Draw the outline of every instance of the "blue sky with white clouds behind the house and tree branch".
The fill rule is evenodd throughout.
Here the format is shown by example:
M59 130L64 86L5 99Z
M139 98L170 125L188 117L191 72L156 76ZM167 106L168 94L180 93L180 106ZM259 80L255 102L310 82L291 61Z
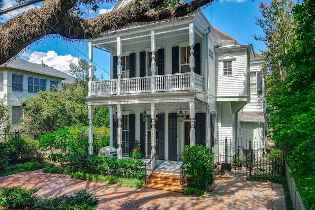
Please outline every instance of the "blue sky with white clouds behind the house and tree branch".
M14 0L4 0L4 7L14 5ZM255 24L255 17L259 17L259 0L217 0L211 6L203 8L209 22L217 29L232 36L241 44L252 44L255 52L265 50L266 46L262 41L256 41L253 34L263 35L262 30ZM101 7L92 17L99 13L110 10L114 4L106 4ZM33 6L32 6L33 7ZM26 8L24 8L25 10ZM20 10L21 11L21 10ZM18 11L10 15L2 16L4 21ZM78 58L87 59L87 42L67 42L60 37L46 37L33 43L22 55L22 59L45 64L58 70L68 73L68 64L77 62ZM109 56L99 50L94 50L94 65L97 74L103 74L105 79L109 78Z

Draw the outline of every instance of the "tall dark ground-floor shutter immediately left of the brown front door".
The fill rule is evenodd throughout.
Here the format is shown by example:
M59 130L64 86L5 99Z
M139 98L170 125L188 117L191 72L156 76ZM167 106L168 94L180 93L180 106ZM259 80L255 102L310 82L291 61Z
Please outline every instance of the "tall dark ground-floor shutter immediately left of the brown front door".
M168 159L177 161L177 114L168 114Z

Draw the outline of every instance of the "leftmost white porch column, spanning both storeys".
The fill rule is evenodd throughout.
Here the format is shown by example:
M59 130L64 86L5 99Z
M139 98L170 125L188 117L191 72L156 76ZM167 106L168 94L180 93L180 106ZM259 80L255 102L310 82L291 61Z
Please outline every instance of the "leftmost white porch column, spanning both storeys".
M92 59L93 59L93 48L92 43L89 43L89 83L88 83L88 96L92 95ZM89 154L93 154L93 106L89 105Z

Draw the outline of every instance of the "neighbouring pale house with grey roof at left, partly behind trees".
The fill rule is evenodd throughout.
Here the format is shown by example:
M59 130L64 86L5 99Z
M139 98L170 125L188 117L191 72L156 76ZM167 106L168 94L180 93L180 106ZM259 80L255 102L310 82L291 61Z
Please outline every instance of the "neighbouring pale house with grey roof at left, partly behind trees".
M6 95L7 105L12 110L12 130L22 126L21 104L29 94L38 90L54 90L62 83L72 83L74 77L45 64L36 64L20 58L0 66L0 98Z

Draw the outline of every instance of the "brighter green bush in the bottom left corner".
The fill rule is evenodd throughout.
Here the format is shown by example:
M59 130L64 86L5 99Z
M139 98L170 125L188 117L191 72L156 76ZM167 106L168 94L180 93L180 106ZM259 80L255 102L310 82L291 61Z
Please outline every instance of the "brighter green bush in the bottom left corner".
M38 201L38 196L33 195L39 188L24 189L19 186L0 189L0 207L8 209L32 208Z

